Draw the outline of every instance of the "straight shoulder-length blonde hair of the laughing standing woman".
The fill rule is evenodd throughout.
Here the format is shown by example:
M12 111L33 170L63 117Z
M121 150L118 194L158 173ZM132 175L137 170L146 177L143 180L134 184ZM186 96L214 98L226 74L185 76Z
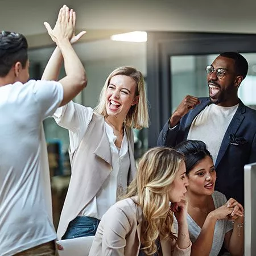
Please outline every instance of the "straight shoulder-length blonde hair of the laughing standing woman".
M98 114L107 117L106 113L106 89L109 86L110 80L113 76L124 75L131 77L137 85L135 96L139 96L139 101L137 104L131 106L129 112L125 118L125 125L135 129L142 129L143 127L148 127L148 109L147 109L147 97L146 88L143 79L143 75L140 71L133 67L119 67L112 71L105 81L105 84L101 90L98 105L94 108L94 111Z

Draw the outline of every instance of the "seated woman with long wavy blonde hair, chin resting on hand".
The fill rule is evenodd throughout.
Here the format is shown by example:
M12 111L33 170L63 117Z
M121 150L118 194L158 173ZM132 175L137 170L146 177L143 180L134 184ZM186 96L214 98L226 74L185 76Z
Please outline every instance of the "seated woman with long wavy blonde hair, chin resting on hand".
M181 154L166 147L148 150L126 199L102 217L89 256L190 255L188 204L182 200L187 185Z

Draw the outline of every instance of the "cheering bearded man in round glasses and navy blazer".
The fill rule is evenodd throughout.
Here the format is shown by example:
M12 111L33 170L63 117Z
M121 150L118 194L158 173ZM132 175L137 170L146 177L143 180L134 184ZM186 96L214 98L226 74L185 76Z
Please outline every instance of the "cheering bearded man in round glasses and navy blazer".
M238 98L248 63L239 53L224 52L205 71L209 97L186 96L164 125L158 146L204 141L216 167L216 190L243 204L243 167L256 162L256 111Z

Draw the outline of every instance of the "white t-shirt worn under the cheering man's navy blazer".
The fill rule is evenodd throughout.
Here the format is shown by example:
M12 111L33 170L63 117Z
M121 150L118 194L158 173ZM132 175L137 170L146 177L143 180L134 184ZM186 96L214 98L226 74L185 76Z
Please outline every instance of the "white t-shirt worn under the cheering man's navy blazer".
M203 141L212 155L214 164L223 137L238 109L238 105L224 107L210 104L196 116L191 124L187 139Z

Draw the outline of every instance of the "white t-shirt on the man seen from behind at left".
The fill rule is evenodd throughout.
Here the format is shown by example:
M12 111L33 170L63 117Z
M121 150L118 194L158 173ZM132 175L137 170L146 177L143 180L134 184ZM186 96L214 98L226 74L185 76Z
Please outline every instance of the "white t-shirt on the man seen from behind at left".
M42 121L63 100L55 81L0 87L0 255L56 239Z

